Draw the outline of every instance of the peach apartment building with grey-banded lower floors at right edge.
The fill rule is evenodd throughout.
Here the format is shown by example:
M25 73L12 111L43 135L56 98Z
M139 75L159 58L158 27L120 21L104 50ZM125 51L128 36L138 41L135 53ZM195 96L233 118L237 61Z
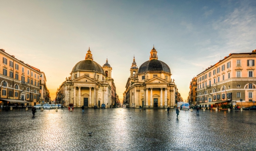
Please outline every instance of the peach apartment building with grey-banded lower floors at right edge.
M247 107L256 99L256 50L229 56L197 75L196 104L209 108Z

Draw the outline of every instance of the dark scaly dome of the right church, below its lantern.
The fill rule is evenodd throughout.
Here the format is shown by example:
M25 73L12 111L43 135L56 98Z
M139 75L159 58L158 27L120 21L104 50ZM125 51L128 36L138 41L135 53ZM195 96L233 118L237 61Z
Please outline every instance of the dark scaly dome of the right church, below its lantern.
M138 73L144 73L147 71L164 71L171 73L169 66L163 61L157 59L152 59L142 63L142 65L139 67Z

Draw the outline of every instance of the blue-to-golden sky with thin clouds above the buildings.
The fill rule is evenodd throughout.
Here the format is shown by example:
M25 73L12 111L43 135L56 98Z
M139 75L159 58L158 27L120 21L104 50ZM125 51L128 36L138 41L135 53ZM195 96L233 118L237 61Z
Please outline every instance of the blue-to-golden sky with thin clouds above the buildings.
M123 100L133 57L151 49L167 63L183 100L193 77L230 53L256 49L255 0L0 0L0 49L46 75L51 100L90 47L108 59Z

